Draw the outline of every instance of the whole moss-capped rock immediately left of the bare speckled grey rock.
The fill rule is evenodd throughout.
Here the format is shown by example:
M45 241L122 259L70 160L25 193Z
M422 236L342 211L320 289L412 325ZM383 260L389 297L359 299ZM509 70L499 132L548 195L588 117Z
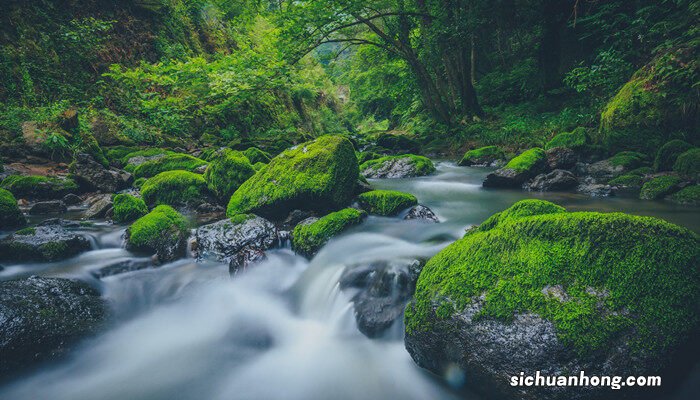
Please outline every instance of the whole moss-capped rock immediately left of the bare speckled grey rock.
M127 249L172 261L185 255L188 234L185 218L172 207L160 205L126 230Z

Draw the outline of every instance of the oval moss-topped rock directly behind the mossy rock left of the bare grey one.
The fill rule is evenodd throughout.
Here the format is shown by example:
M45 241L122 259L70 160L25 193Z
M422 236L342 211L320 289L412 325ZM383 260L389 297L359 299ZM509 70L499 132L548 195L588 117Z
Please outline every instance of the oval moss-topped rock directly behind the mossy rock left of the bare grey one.
M195 205L208 198L209 190L202 175L188 171L166 171L144 182L141 196L149 206Z

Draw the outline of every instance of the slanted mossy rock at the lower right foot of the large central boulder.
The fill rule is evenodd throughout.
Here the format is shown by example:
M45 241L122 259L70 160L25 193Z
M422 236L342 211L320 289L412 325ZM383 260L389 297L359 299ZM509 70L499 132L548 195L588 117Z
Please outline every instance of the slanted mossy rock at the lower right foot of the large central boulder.
M333 237L357 225L365 218L364 211L354 208L330 213L310 224L299 224L292 232L292 249L294 251L311 256Z

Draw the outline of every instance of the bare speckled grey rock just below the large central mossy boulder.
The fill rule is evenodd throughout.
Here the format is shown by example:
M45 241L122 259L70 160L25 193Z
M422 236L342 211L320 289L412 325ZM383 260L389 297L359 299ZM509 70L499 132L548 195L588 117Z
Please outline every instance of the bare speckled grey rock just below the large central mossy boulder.
M243 214L197 228L195 240L198 259L229 262L232 270L237 270L261 259L265 250L274 247L278 232L265 218Z

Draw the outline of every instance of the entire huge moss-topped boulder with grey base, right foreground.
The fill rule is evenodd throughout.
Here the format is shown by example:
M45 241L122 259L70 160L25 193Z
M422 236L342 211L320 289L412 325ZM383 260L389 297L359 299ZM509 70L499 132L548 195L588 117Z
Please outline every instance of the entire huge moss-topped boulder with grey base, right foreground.
M609 389L524 390L510 377L658 375L697 333L699 245L656 218L518 202L428 261L406 348L489 397L600 397Z

